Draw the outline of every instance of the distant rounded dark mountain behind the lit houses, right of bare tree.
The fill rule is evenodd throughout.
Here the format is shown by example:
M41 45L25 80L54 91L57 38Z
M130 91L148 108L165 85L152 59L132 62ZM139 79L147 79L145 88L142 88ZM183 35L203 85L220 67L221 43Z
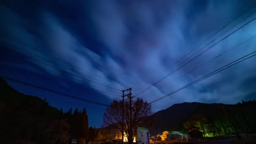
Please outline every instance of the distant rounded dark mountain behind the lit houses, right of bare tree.
M192 115L202 114L205 117L223 115L220 104L203 104L198 102L174 104L173 106L156 112L151 116L152 125L149 131L152 134L163 131L184 131L183 123L189 120Z

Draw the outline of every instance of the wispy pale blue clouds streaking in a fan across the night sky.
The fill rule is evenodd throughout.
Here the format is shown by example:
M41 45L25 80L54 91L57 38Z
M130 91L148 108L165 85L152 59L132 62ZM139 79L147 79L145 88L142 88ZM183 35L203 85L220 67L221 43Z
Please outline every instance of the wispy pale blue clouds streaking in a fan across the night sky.
M53 4L50 8L45 3L40 5L43 6L35 12L37 22L29 19L26 14L22 15L21 11L8 3L2 6L1 13L6 14L0 15L1 21L5 20L1 24L1 35L5 36L1 43L24 56L36 59L30 62L45 72L63 77L61 72L65 71L69 74L70 80L85 83L109 99L118 97L113 93L103 93L102 91L109 91L109 88L88 80L120 90L132 87L133 93L137 94L143 90L139 88L152 85L159 78L152 81L154 77L163 72L167 75L168 71L179 67L181 61L256 10L256 7L251 8L183 60L174 64L185 53L253 5L253 1L248 0L242 4L239 0L92 0L77 4L58 3L58 7ZM70 8L69 11L56 13L67 7ZM72 12L72 8L77 8L74 10L77 13ZM252 14L212 44L255 17L256 14ZM32 23L36 25L33 26ZM149 102L153 101L255 50L255 40L248 41L180 77L256 35L255 25L255 21L251 22L139 96ZM255 58L157 101L153 104L153 109L164 109L171 104L184 101L236 103L253 91L244 91L241 88L243 80L254 77L253 71L256 67L253 66L253 61Z

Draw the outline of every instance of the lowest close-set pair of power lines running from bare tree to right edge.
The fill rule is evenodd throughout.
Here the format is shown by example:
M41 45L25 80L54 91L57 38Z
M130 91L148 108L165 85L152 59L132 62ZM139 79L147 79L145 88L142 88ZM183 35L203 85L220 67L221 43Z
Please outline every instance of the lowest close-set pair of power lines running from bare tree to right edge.
M238 64L238 63L240 63L240 62L242 62L242 61L245 61L246 59L249 59L249 58L251 58L251 57L253 57L253 56L256 56L256 54L250 56L250 55L253 54L253 53L256 53L256 51L253 51L252 53L249 53L249 54L247 54L247 55L245 55L245 56L243 56L243 57L241 57L241 58L239 58L239 59L237 59L237 60L235 60L235 61L232 61L231 63L229 63L229 64L227 64L227 65L225 65L225 66L223 66L223 67L221 67L221 68L219 68L219 69L216 69L215 71L213 71L213 72L211 72L211 73L209 73L209 74L207 74L207 75L205 75L205 76L203 76L203 77L201 77L201 78L199 78L199 79L193 81L192 83L189 83L189 84L187 84L187 85L185 85L185 86L183 86L183 87L177 89L176 91L173 91L173 92L171 92L171 93L169 93L169 94L167 94L167 95L165 95L165 96L163 96L163 97L160 97L159 99L156 99L155 101L152 101L152 102L150 102L149 104L152 104L152 103L154 103L154 102L156 102L156 101L159 101L159 100L161 100L161 99L163 99L163 98L165 98L165 97L167 97L167 96L170 96L170 95L172 95L172 94L174 94L174 93L177 93L178 91L181 91L181 90L183 90L184 88L189 87L190 85L193 85L193 84L195 84L195 83L200 82L201 80L204 80L204 79L206 79L206 78L208 78L208 77L211 77L212 75L215 75L216 73L219 73L219 72L223 71L224 69L227 69L227 68L229 68L229 67L232 67L232 66L234 66L235 64ZM249 56L249 57L247 57L247 56ZM245 57L247 57L247 58L245 58ZM243 58L245 58L245 59L243 59ZM241 60L241 59L242 59L242 60ZM237 61L237 62L236 62L236 61ZM236 62L236 63L234 63L234 62ZM232 64L232 63L234 63L234 64ZM230 64L231 64L231 65L230 65Z

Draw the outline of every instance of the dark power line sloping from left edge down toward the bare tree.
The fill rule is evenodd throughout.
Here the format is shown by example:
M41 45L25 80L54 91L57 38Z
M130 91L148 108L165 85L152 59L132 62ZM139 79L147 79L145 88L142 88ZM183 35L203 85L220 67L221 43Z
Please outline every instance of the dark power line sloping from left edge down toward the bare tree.
M62 95L62 96L67 96L67 97L70 97L72 99L77 99L77 100L80 100L80 101L86 101L86 102L89 102L89 103L92 103L92 104L98 104L98 105L106 106L106 107L109 106L108 104L103 104L103 103L96 102L96 101L90 101L90 100L87 100L87 99L82 99L82 98L79 98L79 97L76 97L76 96L72 96L72 95L69 95L69 94L66 94L66 93L61 93L61 92L58 92L58 91L53 91L53 90L48 89L48 88L42 88L40 86L33 85L33 84L30 84L30 83L25 83L25 82L15 80L15 79L12 79L12 78L3 77L3 76L0 76L0 78L3 78L5 80L11 80L13 82L21 83L21 84L24 84L24 85L29 85L31 87L38 88L38 89L41 89L41 90L44 90L44 91L49 91L49 92L52 92L52 93L56 93L56 94L59 94L59 95Z

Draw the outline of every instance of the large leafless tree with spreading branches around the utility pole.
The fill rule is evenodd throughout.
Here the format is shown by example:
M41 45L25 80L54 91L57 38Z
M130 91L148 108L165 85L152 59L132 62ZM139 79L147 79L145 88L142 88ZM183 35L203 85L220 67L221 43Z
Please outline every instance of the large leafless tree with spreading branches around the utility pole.
M113 101L106 109L103 118L104 127L112 127L122 134L122 101ZM147 126L150 120L147 118L150 114L151 105L142 99L136 99L131 102L124 102L124 135L128 139L128 143L133 142L138 126ZM132 117L130 117L130 112ZM130 124L132 128L130 128ZM132 134L130 134L132 133Z

